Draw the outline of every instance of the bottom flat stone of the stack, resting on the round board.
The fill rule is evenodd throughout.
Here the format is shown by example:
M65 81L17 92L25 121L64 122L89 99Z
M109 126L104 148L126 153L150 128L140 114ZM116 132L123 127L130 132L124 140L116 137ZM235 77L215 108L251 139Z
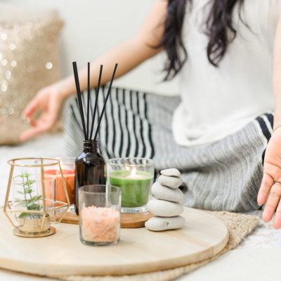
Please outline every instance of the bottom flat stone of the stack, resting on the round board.
M185 224L185 218L182 216L174 216L172 218L161 218L154 216L145 223L145 228L152 231L164 231L182 228Z

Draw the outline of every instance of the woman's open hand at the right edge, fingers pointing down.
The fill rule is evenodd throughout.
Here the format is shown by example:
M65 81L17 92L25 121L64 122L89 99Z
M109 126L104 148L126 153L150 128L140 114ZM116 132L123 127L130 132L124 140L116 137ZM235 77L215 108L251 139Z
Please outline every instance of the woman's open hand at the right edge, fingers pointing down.
M270 138L263 164L263 181L258 195L258 204L265 204L263 221L275 218L273 226L281 228L281 128Z

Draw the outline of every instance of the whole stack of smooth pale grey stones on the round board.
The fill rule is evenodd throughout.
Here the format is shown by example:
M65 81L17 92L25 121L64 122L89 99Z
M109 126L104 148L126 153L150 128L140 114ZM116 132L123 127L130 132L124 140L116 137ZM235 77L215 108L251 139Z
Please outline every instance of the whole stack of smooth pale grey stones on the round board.
M181 173L177 169L161 171L161 176L151 188L156 199L148 202L148 209L155 216L145 223L146 228L163 231L183 227L185 218L180 215L183 213L185 196L179 189L182 183Z

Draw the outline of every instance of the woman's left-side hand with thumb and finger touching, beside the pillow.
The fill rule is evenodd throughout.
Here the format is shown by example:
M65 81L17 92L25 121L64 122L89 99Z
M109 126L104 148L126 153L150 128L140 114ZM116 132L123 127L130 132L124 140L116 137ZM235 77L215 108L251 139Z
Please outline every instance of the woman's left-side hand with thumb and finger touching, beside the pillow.
M58 120L63 100L63 95L55 84L41 89L22 113L32 127L20 135L20 141L26 141L39 133L50 130ZM35 119L34 115L38 112L40 116Z

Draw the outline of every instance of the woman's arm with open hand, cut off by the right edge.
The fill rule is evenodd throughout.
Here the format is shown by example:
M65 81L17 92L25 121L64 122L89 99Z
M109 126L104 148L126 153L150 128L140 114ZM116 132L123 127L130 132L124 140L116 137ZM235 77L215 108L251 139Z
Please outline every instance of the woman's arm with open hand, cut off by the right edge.
M273 57L274 126L263 164L263 181L258 195L259 205L265 204L263 220L281 228L281 18L277 25Z

